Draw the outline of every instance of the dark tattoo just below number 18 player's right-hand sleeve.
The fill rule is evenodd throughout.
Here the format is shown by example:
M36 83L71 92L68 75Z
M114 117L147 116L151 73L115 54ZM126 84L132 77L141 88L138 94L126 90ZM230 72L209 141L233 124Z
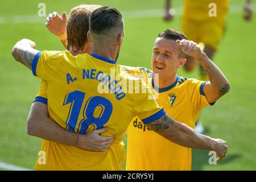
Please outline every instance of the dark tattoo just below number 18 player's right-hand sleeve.
M164 114L163 117L161 117L160 119L158 119L154 122L146 124L146 126L150 130L161 133L161 132L167 130L173 124L174 124L174 119L172 119L169 115Z

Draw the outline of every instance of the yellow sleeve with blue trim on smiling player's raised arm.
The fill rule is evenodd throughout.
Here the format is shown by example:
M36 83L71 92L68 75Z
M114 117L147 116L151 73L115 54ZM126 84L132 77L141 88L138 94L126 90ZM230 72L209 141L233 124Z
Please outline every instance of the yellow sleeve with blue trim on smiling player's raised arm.
M209 104L204 94L203 88L206 82L207 81L188 79L188 84L186 89L188 92L188 96L191 100L191 103L193 105L193 110L195 110L196 113L199 112L201 109L203 109L205 106L212 105L212 104Z

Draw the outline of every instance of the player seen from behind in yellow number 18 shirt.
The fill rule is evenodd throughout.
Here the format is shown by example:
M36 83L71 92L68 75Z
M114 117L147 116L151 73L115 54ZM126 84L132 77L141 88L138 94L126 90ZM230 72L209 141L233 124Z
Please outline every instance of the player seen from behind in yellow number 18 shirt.
M129 77L115 63L123 39L123 20L118 10L100 7L93 11L88 38L91 55L79 55L72 48L69 48L70 52L40 52L28 39L21 40L13 48L15 60L48 82L49 118L71 132L85 134L107 126L109 130L102 135L115 136L113 144L104 152L45 140L42 149L48 153L47 164L37 165L36 169L122 169L122 135L133 115L138 115L149 129L172 142L214 150L221 158L225 156L227 146L224 140L197 134L188 126L174 121L155 100L148 100L152 93L141 79ZM124 88L111 77L111 69L119 74L122 81L138 81L139 88L144 88L146 94L134 94L135 90L131 94L123 92ZM99 88L104 85L110 93L100 93ZM136 106L142 101L143 106Z

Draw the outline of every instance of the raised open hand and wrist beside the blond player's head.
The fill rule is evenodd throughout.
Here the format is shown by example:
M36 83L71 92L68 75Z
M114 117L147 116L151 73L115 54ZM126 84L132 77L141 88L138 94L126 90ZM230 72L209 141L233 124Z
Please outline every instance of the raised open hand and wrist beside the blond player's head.
M59 36L60 42L65 48L68 47L67 43L67 14L65 12L60 16L54 11L46 18L46 27L52 34Z

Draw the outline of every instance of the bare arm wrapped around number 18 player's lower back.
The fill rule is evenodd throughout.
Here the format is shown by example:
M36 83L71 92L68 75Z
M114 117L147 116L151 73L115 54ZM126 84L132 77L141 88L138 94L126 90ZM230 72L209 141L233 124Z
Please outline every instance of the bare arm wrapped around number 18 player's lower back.
M86 135L65 130L49 119L48 114L46 104L34 102L28 115L27 134L96 152L108 150L114 140L114 137L100 135L107 128L93 130Z

